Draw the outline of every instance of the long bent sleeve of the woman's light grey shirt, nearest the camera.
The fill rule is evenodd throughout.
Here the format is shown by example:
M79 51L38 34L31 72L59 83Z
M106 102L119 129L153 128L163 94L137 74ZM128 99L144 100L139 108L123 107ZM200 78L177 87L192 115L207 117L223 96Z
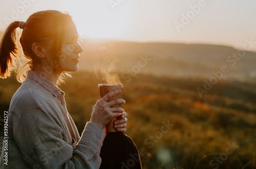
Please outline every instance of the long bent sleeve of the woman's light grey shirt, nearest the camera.
M34 104L24 106L26 111L20 107L14 113L13 135L31 168L99 168L104 129L89 122L79 142L68 144L62 139L65 131L58 116Z

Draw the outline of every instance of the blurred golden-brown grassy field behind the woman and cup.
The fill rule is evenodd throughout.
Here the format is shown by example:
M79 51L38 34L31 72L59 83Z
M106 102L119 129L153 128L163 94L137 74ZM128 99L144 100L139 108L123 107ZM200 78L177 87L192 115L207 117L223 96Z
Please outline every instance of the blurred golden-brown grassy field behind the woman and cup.
M98 99L94 73L78 71L60 88L79 132ZM20 84L0 80L1 116ZM203 79L139 75L123 83L125 134L149 168L256 168L256 85L218 81L200 98Z

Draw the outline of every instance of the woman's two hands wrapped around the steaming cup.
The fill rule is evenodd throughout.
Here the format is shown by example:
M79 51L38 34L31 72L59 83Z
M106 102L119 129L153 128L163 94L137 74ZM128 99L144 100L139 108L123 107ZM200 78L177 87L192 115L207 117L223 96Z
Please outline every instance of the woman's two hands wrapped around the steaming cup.
M96 102L96 104L93 106L93 112L92 112L90 122L96 123L100 127L104 128L113 117L122 115L123 114L122 112L124 111L122 108L120 107L111 108L111 106L114 106L117 104L124 104L125 101L123 99L115 99L115 100L109 101L113 96L119 93L121 93L121 90L111 91L108 94L104 95L101 99L99 99ZM120 121L118 123L121 124L123 120L120 119ZM121 129L122 131L124 131L124 129L126 130L126 122L124 124L125 124L125 128L122 128Z

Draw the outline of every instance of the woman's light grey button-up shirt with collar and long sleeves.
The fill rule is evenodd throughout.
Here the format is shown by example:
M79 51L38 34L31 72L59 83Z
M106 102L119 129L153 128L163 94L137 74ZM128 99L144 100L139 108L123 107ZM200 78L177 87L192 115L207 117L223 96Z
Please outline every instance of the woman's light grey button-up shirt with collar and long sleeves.
M106 133L88 122L80 137L64 95L50 81L28 71L10 103L8 150L4 151L4 143L1 168L99 168Z

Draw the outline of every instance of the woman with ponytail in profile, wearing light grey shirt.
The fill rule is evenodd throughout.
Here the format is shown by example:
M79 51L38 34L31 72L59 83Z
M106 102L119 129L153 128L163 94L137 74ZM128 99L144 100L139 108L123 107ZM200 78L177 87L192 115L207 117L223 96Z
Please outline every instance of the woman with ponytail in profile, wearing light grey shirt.
M8 150L3 149L1 168L99 168L104 127L115 116L114 126L125 132L127 113L122 99L108 102L121 91L106 94L93 107L90 122L81 136L67 111L65 93L56 85L66 71L77 71L79 53L77 30L71 16L59 11L40 11L26 22L14 21L7 28L0 44L0 76L7 78L17 69L16 28L23 29L19 41L29 60L17 79L26 79L12 97L8 111ZM12 64L12 67L10 65ZM8 163L4 155L8 155ZM4 158L4 159L3 159ZM8 164L8 165L7 165Z

